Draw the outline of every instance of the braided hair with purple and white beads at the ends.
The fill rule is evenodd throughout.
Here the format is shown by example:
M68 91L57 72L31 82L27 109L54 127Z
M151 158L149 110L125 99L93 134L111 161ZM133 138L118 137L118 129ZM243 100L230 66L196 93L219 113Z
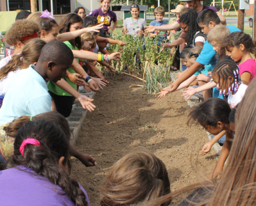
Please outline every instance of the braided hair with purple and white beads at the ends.
M213 74L219 76L219 82L220 78L222 78L222 84L217 84L217 90L220 89L220 95L223 91L223 96L225 96L225 88L227 87L229 77L231 77L231 82L227 94L230 92L235 94L237 92L241 80L239 75L239 67L233 60L223 59L219 61L213 69Z

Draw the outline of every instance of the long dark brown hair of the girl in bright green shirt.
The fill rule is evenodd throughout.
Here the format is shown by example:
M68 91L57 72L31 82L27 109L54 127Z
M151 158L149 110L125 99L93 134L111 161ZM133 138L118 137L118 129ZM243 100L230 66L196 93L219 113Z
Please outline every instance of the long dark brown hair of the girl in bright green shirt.
M79 23L79 22L83 23L83 20L78 14L76 13L67 14L59 24L59 33L69 32L70 26L72 24ZM80 36L75 39L69 40L69 42L73 47L77 46L78 49L82 48Z

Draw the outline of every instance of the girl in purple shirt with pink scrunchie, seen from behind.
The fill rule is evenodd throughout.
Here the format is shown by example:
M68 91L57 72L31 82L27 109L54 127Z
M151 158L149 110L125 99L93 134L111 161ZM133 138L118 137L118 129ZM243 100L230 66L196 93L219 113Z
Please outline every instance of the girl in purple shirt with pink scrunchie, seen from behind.
M22 126L14 141L13 168L1 173L2 203L89 205L84 188L68 175L68 150L69 138L56 124L40 120Z

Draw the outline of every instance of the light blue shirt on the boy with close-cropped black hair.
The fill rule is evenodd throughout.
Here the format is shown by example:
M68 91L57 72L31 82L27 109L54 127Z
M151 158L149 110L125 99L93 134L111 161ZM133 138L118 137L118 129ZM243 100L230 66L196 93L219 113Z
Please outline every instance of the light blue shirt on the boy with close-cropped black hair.
M23 115L36 116L52 111L52 98L46 81L34 67L30 65L11 79L0 109L0 125Z

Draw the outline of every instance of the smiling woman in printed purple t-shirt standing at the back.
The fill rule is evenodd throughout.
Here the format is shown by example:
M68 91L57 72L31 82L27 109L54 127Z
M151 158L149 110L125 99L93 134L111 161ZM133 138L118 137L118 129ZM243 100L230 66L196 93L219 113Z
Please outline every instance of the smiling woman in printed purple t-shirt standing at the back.
M116 14L113 11L109 10L111 0L100 0L101 8L96 9L88 14L88 16L95 16L98 20L98 23L104 23L104 30L109 34L109 30L115 30L117 25ZM113 21L113 26L110 28L111 22Z

